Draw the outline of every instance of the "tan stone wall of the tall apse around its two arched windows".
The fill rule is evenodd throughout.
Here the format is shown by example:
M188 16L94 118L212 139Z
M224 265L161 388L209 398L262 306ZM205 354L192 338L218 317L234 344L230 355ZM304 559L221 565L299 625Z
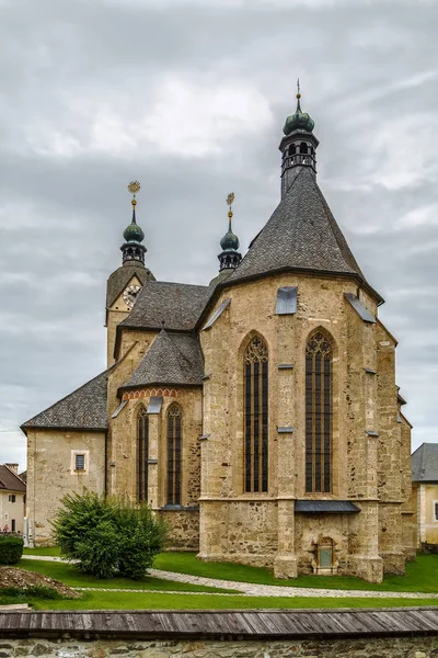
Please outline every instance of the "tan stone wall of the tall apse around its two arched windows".
M277 291L298 286L295 315L275 313ZM273 565L276 575L308 572L311 540L333 536L343 572L380 581L403 572L414 554L410 484L410 428L397 422L395 339L377 321L365 322L345 299L359 295L376 317L376 300L346 279L273 275L223 290L215 308L231 304L200 333L205 371L201 445L200 557ZM214 308L210 309L212 313ZM306 492L306 344L322 331L333 347L332 491ZM243 487L243 354L250 340L266 341L269 362L268 491ZM279 370L280 364L291 364ZM279 433L278 428L293 428ZM295 499L349 499L361 509L349 519L293 514ZM274 509L265 532L251 506ZM402 512L406 520L402 519ZM315 535L315 533L318 533ZM277 535L277 536L275 536ZM314 536L315 535L315 536ZM245 557L246 556L246 557ZM298 565L298 567L297 567ZM344 571L345 569L345 571Z

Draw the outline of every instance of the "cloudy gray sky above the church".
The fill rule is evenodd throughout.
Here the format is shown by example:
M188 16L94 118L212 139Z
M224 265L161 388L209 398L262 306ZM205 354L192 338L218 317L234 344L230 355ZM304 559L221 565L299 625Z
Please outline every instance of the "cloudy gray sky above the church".
M279 201L298 77L413 447L437 442L437 32L436 0L0 0L0 463L105 368L129 181L155 277L208 283L227 194L243 253Z

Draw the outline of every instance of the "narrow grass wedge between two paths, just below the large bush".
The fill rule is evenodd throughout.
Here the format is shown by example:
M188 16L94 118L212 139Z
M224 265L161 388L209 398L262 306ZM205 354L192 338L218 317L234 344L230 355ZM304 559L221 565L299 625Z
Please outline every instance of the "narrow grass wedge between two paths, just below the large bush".
M159 591L181 591L181 592L211 592L211 593L235 593L232 589L219 589L214 587L204 587L200 585L189 585L186 582L174 582L172 580L162 580L159 578L142 578L141 580L129 580L127 578L110 578L102 580L93 576L82 574L72 565L66 563L50 563L37 559L22 559L18 565L20 569L27 571L38 571L44 576L49 576L60 580L66 585L76 587L101 587L107 589L143 589ZM0 590L1 591L1 590Z

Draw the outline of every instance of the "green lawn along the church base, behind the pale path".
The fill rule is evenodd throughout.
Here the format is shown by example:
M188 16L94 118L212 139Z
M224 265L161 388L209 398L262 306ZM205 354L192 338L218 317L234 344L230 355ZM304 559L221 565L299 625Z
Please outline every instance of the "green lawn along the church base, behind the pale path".
M45 552L47 551L51 551L51 555L59 555L59 549L56 547L27 548L25 552L34 555L46 555ZM24 564L24 560L22 564ZM44 564L47 565L48 563ZM438 592L438 555L418 555L416 561L407 563L406 576L385 576L380 585L373 585L349 576L299 576L293 580L277 580L268 569L232 563L205 563L198 560L195 553L161 553L157 556L153 566L165 571L260 585L369 591Z

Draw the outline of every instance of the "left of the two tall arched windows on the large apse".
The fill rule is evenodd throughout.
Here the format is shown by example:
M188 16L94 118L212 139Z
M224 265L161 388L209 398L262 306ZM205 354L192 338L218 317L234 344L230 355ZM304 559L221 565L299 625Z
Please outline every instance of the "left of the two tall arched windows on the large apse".
M267 491L267 392L266 343L252 339L244 358L244 490Z

